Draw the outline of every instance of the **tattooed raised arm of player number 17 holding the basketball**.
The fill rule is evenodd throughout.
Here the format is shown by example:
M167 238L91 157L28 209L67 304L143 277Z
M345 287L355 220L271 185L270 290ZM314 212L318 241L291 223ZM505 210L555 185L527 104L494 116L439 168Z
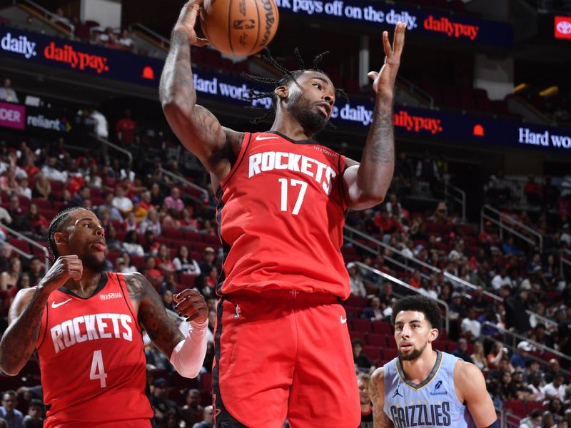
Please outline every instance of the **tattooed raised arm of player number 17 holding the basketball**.
M223 128L210 111L196 104L191 45L208 44L194 31L201 3L202 0L188 1L178 16L159 96L166 119L183 146L194 153L209 172L222 179L240 151L243 133Z

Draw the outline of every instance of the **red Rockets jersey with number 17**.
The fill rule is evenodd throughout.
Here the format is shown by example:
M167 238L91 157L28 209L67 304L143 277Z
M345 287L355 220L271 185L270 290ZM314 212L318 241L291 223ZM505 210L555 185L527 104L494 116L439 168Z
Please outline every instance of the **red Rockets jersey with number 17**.
M285 289L347 298L344 169L345 157L316 141L246 133L218 192L226 253L218 292Z

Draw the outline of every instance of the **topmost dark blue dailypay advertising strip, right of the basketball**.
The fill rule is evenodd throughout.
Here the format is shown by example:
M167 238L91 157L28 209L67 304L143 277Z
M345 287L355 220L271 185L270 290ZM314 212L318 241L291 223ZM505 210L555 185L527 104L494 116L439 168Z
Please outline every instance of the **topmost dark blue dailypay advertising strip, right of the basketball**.
M464 41L510 48L513 31L510 24L477 19L465 14L413 9L396 4L365 0L276 0L285 14L328 19L339 24L353 23L375 29L391 29L398 21L407 24L408 31L440 39Z

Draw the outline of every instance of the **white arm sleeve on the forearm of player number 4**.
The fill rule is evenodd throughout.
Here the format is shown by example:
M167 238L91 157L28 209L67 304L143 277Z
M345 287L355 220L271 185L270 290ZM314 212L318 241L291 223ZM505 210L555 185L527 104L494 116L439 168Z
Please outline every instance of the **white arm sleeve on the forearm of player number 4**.
M185 340L178 342L171 354L171 364L184 377L196 377L200 373L206 356L206 330L208 320L203 324L191 321L191 328Z

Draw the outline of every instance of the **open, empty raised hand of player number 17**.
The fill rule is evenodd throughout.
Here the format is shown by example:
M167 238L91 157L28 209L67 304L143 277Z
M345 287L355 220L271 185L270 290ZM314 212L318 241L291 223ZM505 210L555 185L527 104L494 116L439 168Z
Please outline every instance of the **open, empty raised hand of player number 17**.
M383 31L383 49L385 50L385 63L379 72L370 71L367 74L373 80L373 90L381 96L392 99L397 78L398 67L400 66L400 54L405 46L406 24L399 22L395 27L395 39L393 46L390 46L388 31Z

